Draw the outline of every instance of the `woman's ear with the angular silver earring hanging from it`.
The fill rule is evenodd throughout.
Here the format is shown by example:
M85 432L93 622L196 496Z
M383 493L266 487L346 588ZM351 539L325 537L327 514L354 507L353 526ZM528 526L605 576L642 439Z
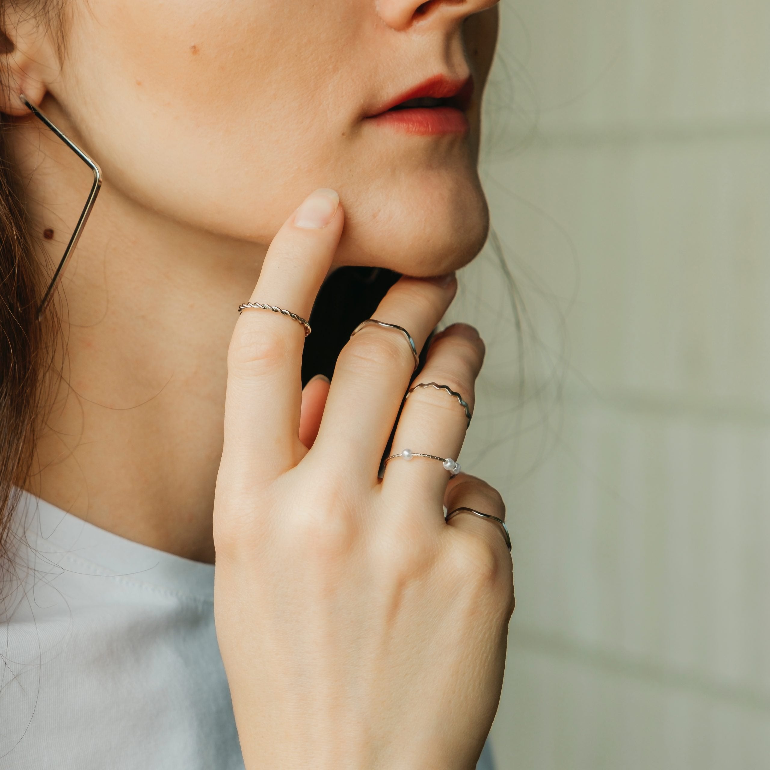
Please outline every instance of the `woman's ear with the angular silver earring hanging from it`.
M39 105L48 84L59 73L59 57L52 45L51 28L39 15L17 8L20 3L4 3L5 18L0 19L0 112L28 115L19 98L24 94Z

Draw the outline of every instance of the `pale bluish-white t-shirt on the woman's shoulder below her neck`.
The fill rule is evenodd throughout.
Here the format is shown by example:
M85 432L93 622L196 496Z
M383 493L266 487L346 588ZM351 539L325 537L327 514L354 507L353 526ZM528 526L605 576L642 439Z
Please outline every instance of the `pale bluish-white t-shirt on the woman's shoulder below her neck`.
M243 768L214 567L22 495L0 583L2 770ZM492 770L489 746L479 770Z

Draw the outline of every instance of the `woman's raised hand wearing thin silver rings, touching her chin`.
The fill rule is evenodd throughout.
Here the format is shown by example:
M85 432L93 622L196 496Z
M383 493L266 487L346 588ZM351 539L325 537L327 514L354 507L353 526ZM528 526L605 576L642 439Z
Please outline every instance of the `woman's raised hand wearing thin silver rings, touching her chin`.
M252 300L307 318L342 229L336 194L313 193L273 240ZM454 277L404 278L374 317L419 350L455 290ZM367 326L325 407L322 387L301 410L303 340L300 323L247 310L229 350L215 611L246 768L469 770L500 697L511 557L496 524L446 524L443 506L503 517L500 495L424 458L391 460L378 479L413 373L403 334ZM418 381L472 406L483 357L470 326L451 326ZM393 452L457 457L466 427L456 399L419 389Z

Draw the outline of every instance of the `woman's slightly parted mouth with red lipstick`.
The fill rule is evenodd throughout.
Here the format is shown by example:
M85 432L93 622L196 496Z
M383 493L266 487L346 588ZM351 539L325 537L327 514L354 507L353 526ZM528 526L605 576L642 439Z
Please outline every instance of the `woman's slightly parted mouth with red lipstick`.
M437 75L380 106L367 120L417 136L464 134L474 81Z

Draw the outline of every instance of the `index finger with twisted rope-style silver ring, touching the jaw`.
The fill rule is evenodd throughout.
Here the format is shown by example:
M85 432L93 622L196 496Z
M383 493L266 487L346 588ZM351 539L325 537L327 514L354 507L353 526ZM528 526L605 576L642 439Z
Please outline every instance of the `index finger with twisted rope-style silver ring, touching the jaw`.
M255 480L276 477L306 451L299 439L306 319L329 272L343 229L330 189L308 196L267 251L249 300L280 309L243 310L228 353L223 461ZM286 311L286 313L283 313Z

